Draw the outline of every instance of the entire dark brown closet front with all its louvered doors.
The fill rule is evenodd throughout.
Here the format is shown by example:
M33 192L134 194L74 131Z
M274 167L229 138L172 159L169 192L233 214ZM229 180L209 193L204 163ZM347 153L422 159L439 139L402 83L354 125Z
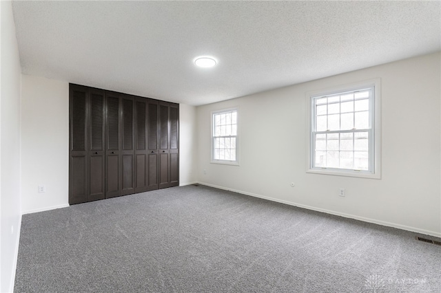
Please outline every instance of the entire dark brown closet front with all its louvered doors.
M179 185L179 105L70 84L69 204Z

